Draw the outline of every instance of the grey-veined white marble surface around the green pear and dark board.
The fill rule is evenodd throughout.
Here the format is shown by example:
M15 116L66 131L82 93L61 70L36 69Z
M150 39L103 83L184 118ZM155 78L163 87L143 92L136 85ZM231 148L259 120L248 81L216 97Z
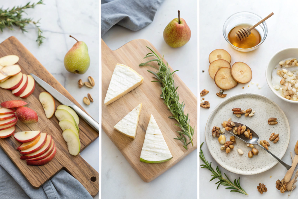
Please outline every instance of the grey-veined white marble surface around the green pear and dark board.
M24 5L28 1L0 0L3 8L12 8L15 5ZM37 0L31 1L37 2ZM40 27L44 31L44 43L38 47L35 42L37 30L28 25L28 33L22 33L18 28L15 31L5 29L0 33L0 42L10 36L15 36L46 69L66 88L66 90L82 105L82 107L98 122L99 121L99 2L98 1L45 1L45 5L37 5L34 9L27 9L24 17L41 18ZM75 44L74 36L84 41L89 50L91 64L83 75L69 73L63 64L67 51ZM88 76L95 80L95 87L78 87L78 80L88 81ZM94 103L89 106L83 103L83 96L90 93ZM99 142L91 143L81 156L97 171L99 171ZM98 195L95 197L98 198Z

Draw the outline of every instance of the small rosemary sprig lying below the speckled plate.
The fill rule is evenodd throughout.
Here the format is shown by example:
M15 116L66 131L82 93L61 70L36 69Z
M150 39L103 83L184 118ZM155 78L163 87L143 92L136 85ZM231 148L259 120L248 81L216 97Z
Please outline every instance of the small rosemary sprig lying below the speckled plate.
M201 166L202 166L201 168L208 169L209 171L212 172L211 176L213 176L213 177L211 178L210 181L214 180L215 178L219 179L219 181L217 183L215 183L215 184L218 184L216 190L218 189L219 185L223 185L223 186L229 186L229 187L226 187L226 189L232 189L231 192L238 192L238 193L242 193L244 195L248 195L244 191L244 189L242 189L242 187L240 186L240 178L237 181L235 179L234 183L232 183L232 181L230 181L230 179L228 178L228 176L226 176L225 173L224 173L224 175L226 176L227 179L225 179L221 175L221 171L219 170L218 166L216 167L216 171L212 168L211 162L209 163L204 157L203 151L201 149L203 144L204 144L204 142L200 146L200 159L204 162L204 164L201 164Z

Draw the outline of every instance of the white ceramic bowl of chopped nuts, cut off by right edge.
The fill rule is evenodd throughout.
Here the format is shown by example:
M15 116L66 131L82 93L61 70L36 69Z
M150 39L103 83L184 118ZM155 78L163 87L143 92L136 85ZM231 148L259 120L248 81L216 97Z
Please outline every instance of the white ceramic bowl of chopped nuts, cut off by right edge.
M278 92L274 89L273 84L272 84L272 72L273 72L274 68L280 61L287 59L287 58L298 58L298 48L285 48L283 50L278 51L271 57L270 61L267 64L267 67L266 67L266 81L267 81L267 84L268 84L269 88L271 89L271 91L277 97L279 97L280 99L282 99L284 101L298 104L298 101L288 100L288 99L282 97L280 94L278 94Z

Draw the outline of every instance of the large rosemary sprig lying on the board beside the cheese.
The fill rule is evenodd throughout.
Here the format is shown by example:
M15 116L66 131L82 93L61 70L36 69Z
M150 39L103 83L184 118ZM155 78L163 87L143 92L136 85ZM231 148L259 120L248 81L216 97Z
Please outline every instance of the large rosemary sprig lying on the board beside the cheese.
M151 49L149 48L149 50ZM164 57L160 58L153 50L151 51L152 53L148 53L144 57L144 59L148 57L154 57L155 59L139 64L139 66L150 66L158 70L157 72L148 70L148 72L155 75L154 78L158 80L158 81L152 81L152 82L158 82L162 84L161 86L162 94L160 95L160 97L164 99L164 104L167 105L168 110L173 115L173 116L170 116L169 118L176 119L176 121L178 121L179 124L175 124L175 125L180 127L181 129L181 131L177 131L180 137L177 136L177 138L174 138L174 139L180 140L184 148L187 150L188 144L191 143L193 146L193 134L195 132L195 127L192 128L190 126L190 119L188 119L188 114L184 115L184 107L185 107L184 101L181 104L179 103L179 94L177 92L178 87L175 87L175 84L174 84L174 75L175 75L174 73L179 70L175 70L174 72L171 73L170 68L168 67L168 64L166 65L162 61ZM149 65L148 63L151 61L157 61L159 68ZM190 142L187 143L187 139L184 137L184 135L189 138Z

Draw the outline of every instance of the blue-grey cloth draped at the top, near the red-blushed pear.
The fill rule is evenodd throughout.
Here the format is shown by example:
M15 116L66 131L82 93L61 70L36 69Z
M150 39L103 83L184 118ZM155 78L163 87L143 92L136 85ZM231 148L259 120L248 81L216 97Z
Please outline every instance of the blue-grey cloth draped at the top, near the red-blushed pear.
M118 24L137 31L153 21L164 0L101 0L101 36Z

